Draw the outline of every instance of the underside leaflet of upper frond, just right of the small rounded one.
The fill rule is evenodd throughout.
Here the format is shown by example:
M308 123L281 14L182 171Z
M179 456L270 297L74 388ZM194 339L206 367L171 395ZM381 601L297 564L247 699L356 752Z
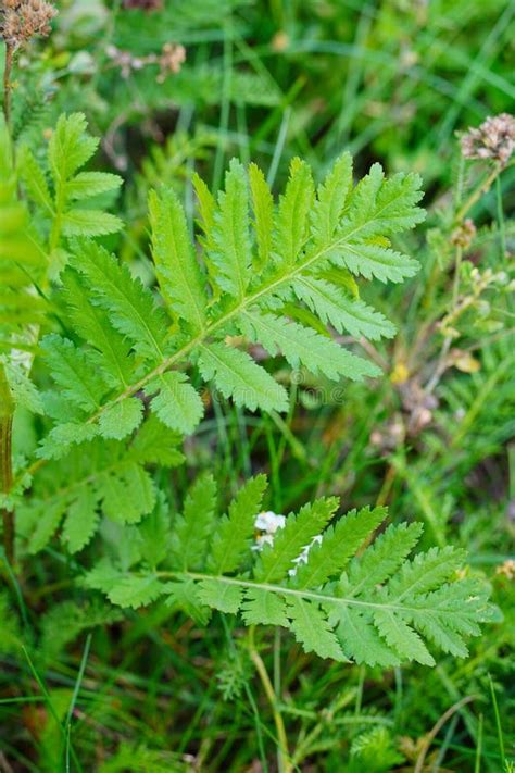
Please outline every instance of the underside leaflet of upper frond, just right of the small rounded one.
M205 381L213 381L224 397L250 411L287 411L284 387L258 365L247 352L224 344L199 347L199 370Z

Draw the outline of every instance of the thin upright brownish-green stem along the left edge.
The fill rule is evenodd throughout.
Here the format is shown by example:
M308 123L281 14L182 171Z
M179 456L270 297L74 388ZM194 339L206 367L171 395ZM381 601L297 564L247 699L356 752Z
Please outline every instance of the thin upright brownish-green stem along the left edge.
M14 402L11 397L3 365L0 364L0 493L8 495L13 485L12 429ZM8 562L14 563L14 512L1 509L3 521L3 547Z

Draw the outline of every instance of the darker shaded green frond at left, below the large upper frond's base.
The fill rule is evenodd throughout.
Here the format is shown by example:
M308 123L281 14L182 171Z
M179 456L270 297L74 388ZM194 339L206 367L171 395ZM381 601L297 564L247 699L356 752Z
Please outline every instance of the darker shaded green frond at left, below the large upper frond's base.
M118 416L108 437L120 425ZM176 448L179 438L154 417L128 442L74 434L68 440L64 458L47 464L36 478L32 500L20 506L21 531L28 537L30 552L41 550L62 522L61 539L72 553L91 540L102 515L118 524L139 523L152 512L158 497L148 467L155 463L172 467L184 461Z

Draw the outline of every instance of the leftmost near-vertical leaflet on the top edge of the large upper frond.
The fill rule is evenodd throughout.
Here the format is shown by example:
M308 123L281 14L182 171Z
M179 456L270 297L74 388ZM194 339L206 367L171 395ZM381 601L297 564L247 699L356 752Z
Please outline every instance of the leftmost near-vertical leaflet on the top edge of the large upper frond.
M208 297L199 262L188 233L185 211L171 189L149 197L152 254L165 302L187 320L194 332L205 324Z

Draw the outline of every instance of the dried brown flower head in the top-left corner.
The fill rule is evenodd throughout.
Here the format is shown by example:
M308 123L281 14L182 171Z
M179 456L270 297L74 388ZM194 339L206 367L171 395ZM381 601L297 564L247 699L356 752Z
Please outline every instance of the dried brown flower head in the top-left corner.
M0 5L0 36L17 49L36 36L50 34L55 7L46 0L3 0Z

